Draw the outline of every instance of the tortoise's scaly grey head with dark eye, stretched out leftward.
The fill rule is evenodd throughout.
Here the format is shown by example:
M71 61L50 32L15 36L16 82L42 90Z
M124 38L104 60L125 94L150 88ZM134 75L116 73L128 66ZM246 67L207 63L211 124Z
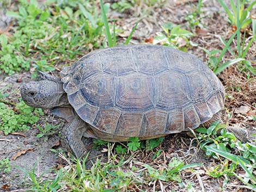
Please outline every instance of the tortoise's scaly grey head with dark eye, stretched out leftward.
M21 88L21 98L28 106L51 109L68 104L60 79L39 72L37 82L29 82Z

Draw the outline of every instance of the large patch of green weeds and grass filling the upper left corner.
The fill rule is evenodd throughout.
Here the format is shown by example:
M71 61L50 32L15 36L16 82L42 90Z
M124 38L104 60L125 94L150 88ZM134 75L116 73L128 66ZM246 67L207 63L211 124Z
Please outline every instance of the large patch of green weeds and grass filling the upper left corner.
M101 46L103 22L95 2L59 3L61 6L19 1L18 11L8 11L17 25L12 37L0 36L3 72L12 75L32 65L35 77L38 70L52 71L56 63L70 63L75 56L84 55L88 47ZM109 5L105 7L107 11Z

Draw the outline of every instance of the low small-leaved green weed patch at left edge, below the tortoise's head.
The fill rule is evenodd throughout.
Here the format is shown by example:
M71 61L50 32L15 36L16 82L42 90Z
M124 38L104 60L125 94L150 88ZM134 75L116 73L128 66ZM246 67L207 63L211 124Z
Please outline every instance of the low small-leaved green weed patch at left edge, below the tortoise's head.
M0 130L5 135L11 132L28 131L28 125L33 125L43 114L42 109L33 109L23 101L16 103L15 110L0 102Z

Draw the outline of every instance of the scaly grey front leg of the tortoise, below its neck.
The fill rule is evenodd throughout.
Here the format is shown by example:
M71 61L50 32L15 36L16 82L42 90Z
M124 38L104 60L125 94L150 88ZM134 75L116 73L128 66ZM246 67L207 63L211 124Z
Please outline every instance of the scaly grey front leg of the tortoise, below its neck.
M70 147L76 157L80 158L88 153L88 148L83 144L82 137L87 131L86 122L77 115L62 130L62 138Z

